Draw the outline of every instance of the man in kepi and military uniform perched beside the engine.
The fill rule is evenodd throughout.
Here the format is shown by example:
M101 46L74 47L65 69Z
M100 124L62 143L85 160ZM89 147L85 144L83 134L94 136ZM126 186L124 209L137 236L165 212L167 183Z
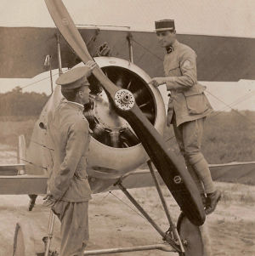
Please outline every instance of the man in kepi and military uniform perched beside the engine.
M170 100L167 125L173 130L188 170L201 191L206 213L212 213L221 197L212 182L207 161L201 154L204 122L212 112L212 106L204 94L205 87L197 82L195 51L176 39L174 20L155 22L156 35L161 47L166 48L164 71L166 77L154 77L154 86L167 85ZM204 192L206 196L204 196Z

